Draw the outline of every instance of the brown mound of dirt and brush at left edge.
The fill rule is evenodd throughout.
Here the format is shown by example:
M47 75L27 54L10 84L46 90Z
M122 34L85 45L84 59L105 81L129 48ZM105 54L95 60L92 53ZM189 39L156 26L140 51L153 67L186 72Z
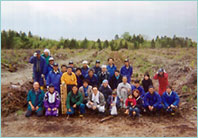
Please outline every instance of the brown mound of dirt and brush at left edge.
M8 116L10 113L23 109L27 105L27 92L32 88L32 82L24 84L10 84L7 93L1 97L2 116Z

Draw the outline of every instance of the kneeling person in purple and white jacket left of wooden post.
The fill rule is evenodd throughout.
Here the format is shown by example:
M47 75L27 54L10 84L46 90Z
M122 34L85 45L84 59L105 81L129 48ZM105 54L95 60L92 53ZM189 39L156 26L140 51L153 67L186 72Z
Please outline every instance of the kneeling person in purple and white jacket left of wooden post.
M45 116L58 116L58 108L60 106L60 96L54 89L54 85L49 85L49 91L45 93L44 107Z

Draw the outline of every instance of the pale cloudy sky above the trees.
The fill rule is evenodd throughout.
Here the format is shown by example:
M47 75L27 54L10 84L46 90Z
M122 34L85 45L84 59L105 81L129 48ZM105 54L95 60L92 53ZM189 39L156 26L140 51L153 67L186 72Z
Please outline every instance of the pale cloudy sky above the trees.
M197 40L197 1L2 1L1 30L59 40L111 40L124 32L145 39Z

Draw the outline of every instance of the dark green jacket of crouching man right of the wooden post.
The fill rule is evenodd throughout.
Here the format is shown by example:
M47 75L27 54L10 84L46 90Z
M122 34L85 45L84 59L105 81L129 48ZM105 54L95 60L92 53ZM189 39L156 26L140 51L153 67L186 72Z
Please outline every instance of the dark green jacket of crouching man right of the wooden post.
M74 104L76 104L76 106L79 106L82 102L83 102L83 96L79 91L76 94L74 94L71 91L67 95L67 101L66 101L67 109L70 109Z

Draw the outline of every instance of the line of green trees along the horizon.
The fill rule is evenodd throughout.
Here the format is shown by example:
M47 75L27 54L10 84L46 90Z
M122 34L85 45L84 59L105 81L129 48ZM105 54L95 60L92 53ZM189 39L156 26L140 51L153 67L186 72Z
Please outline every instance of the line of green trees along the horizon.
M152 40L146 40L141 34L131 35L125 32L121 36L115 35L114 39L108 41L76 40L61 38L59 41L42 38L33 35L31 31L17 32L14 30L1 31L1 48L2 49L36 49L36 48L69 48L69 49L105 49L110 48L112 51L119 49L139 49L139 48L175 48L175 47L196 47L197 43L188 37L172 38L167 36L157 36Z

